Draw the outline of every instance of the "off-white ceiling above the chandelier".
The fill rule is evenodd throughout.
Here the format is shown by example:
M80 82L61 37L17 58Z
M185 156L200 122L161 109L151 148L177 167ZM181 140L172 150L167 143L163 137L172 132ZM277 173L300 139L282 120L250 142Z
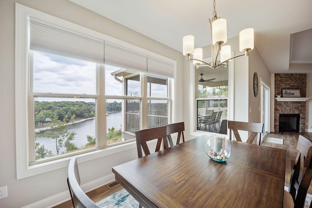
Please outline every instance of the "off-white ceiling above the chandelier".
M213 0L70 1L179 52L186 35L195 36L195 48L211 44ZM311 9L312 0L216 0L228 38L254 28L254 45L271 73L312 73Z

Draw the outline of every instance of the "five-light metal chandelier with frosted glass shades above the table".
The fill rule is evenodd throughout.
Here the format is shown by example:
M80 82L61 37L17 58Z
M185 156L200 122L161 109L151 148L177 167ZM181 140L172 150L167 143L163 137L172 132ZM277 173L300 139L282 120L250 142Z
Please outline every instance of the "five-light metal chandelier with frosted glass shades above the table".
M200 64L207 64L210 68L217 68L220 65L227 66L227 63L233 58L248 56L249 51L254 49L254 29L248 28L240 31L239 33L239 51L244 52L244 54L231 57L231 46L222 44L227 41L227 29L226 29L226 19L220 19L216 16L215 11L215 0L214 0L214 12L213 18L209 19L210 31L211 31L211 54L212 62L207 63L202 60L202 48L194 49L194 36L183 37L183 55L186 59L193 60L193 64L198 69ZM220 55L220 62L217 62L218 56Z

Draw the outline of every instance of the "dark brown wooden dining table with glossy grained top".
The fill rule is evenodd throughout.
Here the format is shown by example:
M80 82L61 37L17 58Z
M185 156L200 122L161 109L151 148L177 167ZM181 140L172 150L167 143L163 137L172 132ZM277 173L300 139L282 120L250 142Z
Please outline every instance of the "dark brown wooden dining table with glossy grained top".
M113 167L144 208L279 208L286 151L230 140L225 162L210 159L199 136Z

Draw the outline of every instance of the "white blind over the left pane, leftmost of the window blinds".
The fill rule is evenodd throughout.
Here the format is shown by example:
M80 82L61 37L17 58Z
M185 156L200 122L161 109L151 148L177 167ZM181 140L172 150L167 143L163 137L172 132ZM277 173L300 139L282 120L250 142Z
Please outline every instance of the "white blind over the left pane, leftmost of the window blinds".
M30 19L30 49L103 63L104 41L42 20Z

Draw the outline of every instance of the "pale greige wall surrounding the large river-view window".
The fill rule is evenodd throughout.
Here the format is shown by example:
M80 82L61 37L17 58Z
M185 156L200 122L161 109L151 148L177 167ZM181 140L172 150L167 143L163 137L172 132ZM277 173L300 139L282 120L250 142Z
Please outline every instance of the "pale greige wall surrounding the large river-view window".
M49 207L58 203L58 194L67 193L67 168L16 179L15 147L15 2L131 43L177 61L176 76L183 80L182 54L68 0L0 0L0 187L8 187L8 197L0 208ZM182 37L181 37L182 39ZM176 82L175 121L183 121L183 83ZM114 179L112 167L137 158L135 146L122 153L78 164L81 184L93 189ZM78 160L79 162L79 160ZM54 197L54 198L53 198ZM67 198L69 199L69 198Z

